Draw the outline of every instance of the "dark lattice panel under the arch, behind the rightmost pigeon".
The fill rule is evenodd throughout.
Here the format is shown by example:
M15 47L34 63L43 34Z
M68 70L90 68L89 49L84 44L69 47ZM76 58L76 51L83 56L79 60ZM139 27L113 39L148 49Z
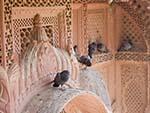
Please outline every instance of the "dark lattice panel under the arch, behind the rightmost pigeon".
M142 29L126 12L123 13L121 20L121 38L126 39L128 36L128 39L132 40L134 47L131 51L145 52L147 48Z

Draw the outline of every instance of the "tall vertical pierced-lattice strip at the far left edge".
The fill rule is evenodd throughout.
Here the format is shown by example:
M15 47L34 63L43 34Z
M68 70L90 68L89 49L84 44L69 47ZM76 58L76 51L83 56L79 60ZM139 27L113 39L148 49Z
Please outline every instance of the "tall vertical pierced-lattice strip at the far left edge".
M12 37L12 19L11 19L11 16L12 16L12 4L11 4L11 1L7 1L7 0L2 0L4 1L3 4L4 4L4 10L3 12L4 13L4 17L3 17L3 43L5 45L3 45L4 47L4 65L5 67L8 68L9 65L12 64L12 53L13 53L13 37Z

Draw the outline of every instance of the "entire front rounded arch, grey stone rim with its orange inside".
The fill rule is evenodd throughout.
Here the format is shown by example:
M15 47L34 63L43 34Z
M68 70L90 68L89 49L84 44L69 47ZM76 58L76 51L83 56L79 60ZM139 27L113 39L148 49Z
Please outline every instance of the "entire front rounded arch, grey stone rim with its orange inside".
M79 89L66 89L65 91L61 91L59 89L49 88L39 93L39 95L40 96L33 97L22 113L31 113L33 109L31 110L30 108L33 106L34 108L38 108L35 109L35 112L38 111L39 113L61 113L64 111L66 113L75 113L75 109L71 107L73 104L82 112L110 113L103 101L90 91ZM90 98L90 100L88 98ZM40 103L39 99L41 99L42 102L37 105L36 103ZM80 105L82 104L82 107L80 108L76 102L79 102L78 104ZM85 104L90 105L88 107L89 109L83 106ZM70 112L70 109L72 109L72 112Z

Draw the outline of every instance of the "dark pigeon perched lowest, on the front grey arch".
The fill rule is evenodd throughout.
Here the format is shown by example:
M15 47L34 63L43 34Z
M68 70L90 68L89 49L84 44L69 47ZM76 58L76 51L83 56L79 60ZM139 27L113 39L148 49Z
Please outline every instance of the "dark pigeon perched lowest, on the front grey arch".
M70 73L68 70L64 70L61 73L57 73L54 80L51 83L53 84L53 87L61 87L69 80ZM50 83L50 84L51 84Z

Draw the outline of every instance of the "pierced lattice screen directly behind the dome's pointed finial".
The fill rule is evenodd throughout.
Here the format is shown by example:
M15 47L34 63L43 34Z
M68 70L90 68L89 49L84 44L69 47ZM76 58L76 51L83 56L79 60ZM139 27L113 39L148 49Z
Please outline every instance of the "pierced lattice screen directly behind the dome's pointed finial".
M44 17L42 18L43 28L47 36L50 38L50 43L58 46L58 22L57 17ZM33 27L33 19L14 19L13 20L13 34L14 34L14 49L18 54L23 53L28 44L30 43L30 34Z

